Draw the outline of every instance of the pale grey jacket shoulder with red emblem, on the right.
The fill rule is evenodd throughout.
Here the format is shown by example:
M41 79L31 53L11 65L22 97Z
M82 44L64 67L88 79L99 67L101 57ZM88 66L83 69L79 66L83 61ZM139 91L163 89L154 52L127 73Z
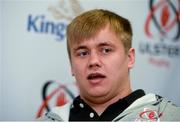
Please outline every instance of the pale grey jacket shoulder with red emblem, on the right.
M146 94L134 101L117 120L180 121L180 107L157 94Z

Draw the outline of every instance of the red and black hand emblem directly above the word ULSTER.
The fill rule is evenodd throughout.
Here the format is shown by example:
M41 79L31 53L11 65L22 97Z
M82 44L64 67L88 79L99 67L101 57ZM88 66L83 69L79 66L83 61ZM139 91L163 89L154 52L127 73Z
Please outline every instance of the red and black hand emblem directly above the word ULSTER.
M145 23L149 38L160 37L177 41L180 38L180 1L150 0Z

